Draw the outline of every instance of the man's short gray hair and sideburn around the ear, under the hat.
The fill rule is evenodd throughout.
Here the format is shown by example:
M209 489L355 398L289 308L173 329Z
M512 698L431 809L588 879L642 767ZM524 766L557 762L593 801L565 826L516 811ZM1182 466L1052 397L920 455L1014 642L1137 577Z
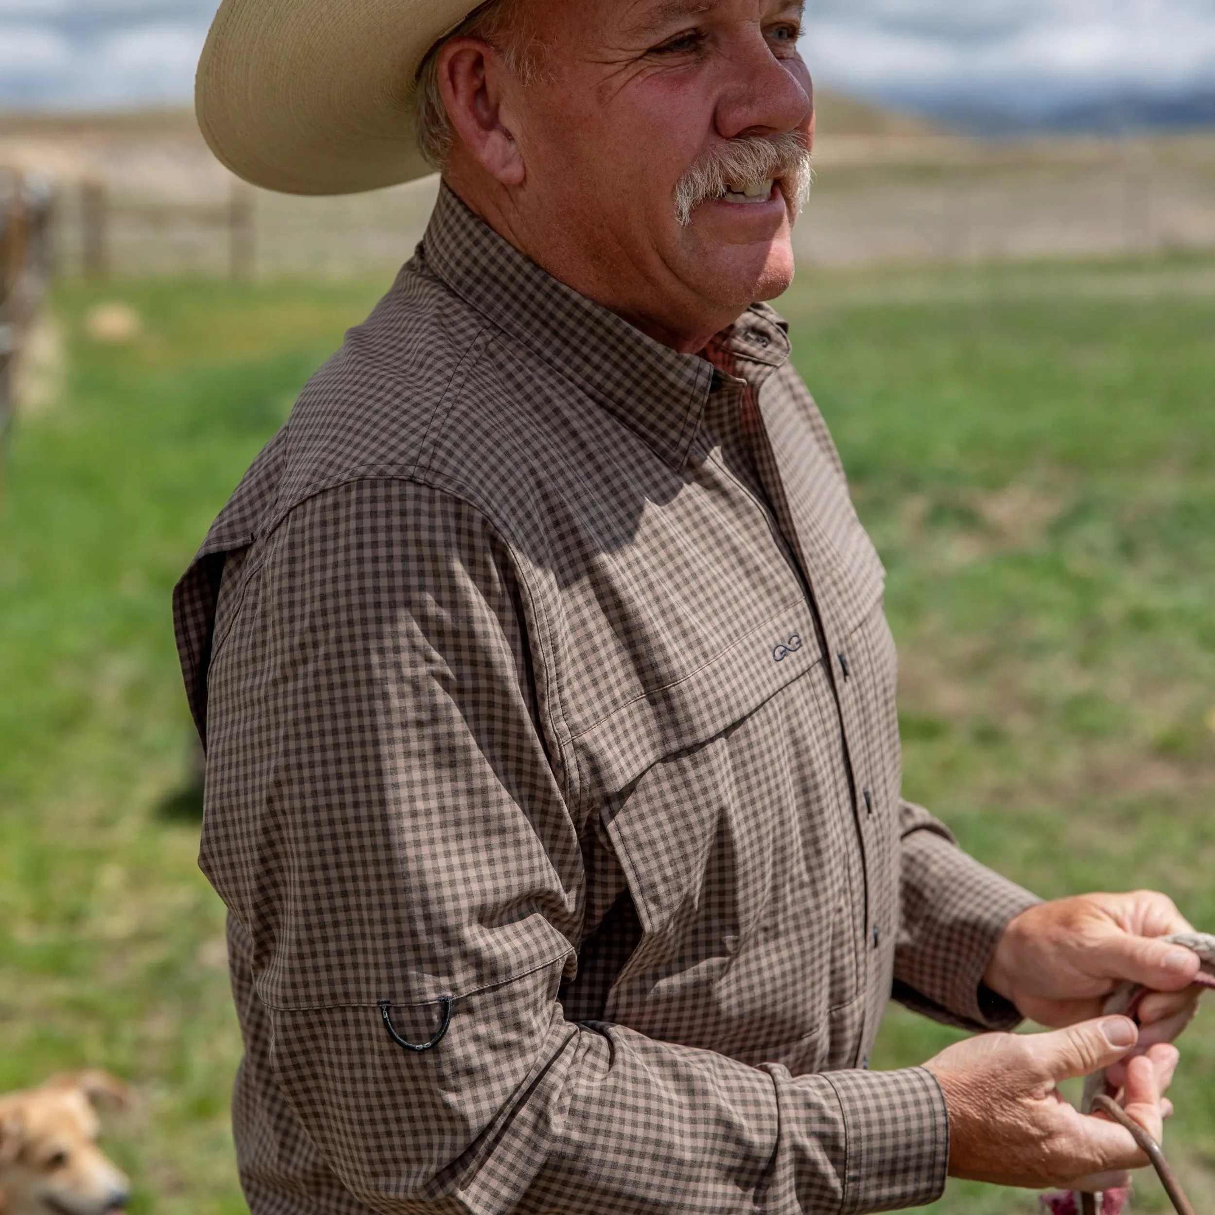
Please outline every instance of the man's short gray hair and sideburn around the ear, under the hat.
M426 52L413 87L413 132L418 149L435 169L447 166L452 147L452 124L439 91L439 51L453 38L480 38L498 51L524 84L530 84L539 73L543 44L525 13L527 7L529 0L488 0Z

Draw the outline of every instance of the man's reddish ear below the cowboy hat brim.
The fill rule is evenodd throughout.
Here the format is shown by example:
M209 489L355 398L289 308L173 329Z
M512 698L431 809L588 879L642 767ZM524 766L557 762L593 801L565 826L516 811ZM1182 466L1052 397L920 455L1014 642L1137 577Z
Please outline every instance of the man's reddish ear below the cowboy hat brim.
M480 38L453 38L439 49L439 92L457 139L490 176L519 186L524 162L512 109L514 73Z

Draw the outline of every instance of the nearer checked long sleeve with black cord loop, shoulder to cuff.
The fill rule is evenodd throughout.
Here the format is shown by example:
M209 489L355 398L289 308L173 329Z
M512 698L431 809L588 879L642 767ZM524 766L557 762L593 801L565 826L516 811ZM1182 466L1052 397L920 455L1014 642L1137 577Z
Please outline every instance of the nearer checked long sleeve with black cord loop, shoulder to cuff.
M542 625L495 527L414 482L318 493L225 577L202 863L324 1164L385 1213L932 1200L948 1123L922 1069L795 1078L565 1018L583 823ZM420 1044L445 1001L431 1049L389 1036L382 1005Z

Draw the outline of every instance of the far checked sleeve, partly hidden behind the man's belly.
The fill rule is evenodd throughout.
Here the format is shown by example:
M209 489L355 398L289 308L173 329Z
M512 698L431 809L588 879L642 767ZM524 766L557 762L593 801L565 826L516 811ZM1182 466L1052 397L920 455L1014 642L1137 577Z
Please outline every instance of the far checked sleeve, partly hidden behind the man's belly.
M1011 1029L1021 1017L983 988L983 972L1008 921L1040 900L962 852L922 807L904 802L900 819L895 998L962 1029Z

